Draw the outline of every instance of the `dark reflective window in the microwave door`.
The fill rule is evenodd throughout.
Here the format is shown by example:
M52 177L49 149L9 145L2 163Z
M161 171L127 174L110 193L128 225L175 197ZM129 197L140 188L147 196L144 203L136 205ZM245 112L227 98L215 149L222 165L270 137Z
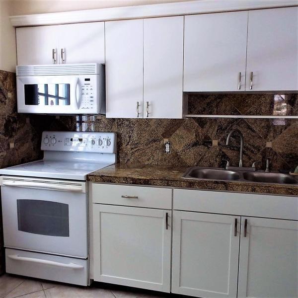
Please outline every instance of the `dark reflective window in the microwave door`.
M25 105L67 106L71 104L70 84L25 84Z

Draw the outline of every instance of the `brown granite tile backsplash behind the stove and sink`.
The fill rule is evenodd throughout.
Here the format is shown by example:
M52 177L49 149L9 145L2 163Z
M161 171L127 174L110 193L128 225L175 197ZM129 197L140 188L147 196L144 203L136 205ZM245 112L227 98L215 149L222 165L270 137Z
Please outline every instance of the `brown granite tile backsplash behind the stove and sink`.
M298 115L298 94L189 95L189 114ZM0 167L42 157L43 130L75 130L75 116L24 115L16 112L15 74L0 71ZM243 165L271 157L271 168L298 165L298 119L107 119L97 116L95 131L117 133L118 161L173 166L223 166L222 159L237 165L239 137L225 145L231 129L244 137ZM164 141L170 153L164 152ZM0 213L1 216L1 213ZM0 273L4 270L0 221Z

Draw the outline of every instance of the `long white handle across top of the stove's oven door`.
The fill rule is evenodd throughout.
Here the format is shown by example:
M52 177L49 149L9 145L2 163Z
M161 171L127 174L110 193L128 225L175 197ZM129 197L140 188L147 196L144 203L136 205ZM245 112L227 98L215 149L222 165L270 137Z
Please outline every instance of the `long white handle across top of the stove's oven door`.
M83 192L82 185L59 185L59 184L46 184L43 182L27 182L27 181L2 181L3 186L16 186L16 187L37 187L53 190Z

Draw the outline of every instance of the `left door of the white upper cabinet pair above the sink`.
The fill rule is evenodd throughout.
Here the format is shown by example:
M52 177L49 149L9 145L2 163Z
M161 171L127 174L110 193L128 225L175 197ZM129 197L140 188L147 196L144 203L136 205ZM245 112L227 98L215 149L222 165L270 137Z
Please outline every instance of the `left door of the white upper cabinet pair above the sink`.
M244 91L247 14L185 16L184 91Z

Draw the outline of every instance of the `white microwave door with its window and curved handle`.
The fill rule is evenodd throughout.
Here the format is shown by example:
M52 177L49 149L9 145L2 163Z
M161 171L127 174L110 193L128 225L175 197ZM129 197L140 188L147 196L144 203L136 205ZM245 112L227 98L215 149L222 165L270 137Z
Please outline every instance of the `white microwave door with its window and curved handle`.
M74 114L79 109L78 76L17 76L16 87L19 113Z

